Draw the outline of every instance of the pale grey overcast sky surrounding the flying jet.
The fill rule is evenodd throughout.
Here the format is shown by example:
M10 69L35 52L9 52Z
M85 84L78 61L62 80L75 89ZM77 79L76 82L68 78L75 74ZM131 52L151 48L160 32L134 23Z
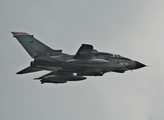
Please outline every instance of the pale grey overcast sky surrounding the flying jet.
M15 73L32 58L12 37L27 32L75 54L82 43L149 67L43 84ZM1 120L164 120L163 0L1 0Z

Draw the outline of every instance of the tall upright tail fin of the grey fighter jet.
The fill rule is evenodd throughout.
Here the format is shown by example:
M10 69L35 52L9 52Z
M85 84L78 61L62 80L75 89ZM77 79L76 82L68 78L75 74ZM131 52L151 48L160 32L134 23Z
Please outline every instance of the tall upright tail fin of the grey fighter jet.
M54 50L43 44L39 40L35 39L33 35L29 35L24 32L11 32L13 37L15 37L19 43L24 47L28 54L35 58L43 53L51 53Z

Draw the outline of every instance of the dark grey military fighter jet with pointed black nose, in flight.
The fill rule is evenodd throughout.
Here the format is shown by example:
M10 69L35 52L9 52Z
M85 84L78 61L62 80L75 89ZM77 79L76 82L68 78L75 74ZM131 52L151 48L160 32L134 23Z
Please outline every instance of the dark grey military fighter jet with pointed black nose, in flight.
M66 83L67 81L85 80L84 76L103 76L107 72L124 73L146 65L120 55L99 52L92 45L82 44L75 55L54 50L24 32L12 32L13 36L34 59L30 66L17 74L41 70L51 71L35 80L43 83Z

